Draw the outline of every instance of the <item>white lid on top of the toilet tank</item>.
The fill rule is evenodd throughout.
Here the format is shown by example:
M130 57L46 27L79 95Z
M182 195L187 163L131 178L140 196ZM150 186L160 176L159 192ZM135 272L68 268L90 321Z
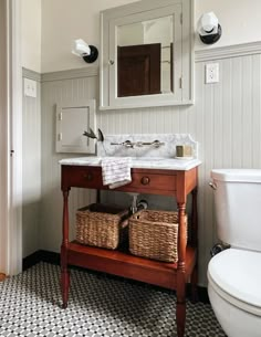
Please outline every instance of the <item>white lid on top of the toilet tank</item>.
M218 181L261 182L261 169L212 169L211 178Z

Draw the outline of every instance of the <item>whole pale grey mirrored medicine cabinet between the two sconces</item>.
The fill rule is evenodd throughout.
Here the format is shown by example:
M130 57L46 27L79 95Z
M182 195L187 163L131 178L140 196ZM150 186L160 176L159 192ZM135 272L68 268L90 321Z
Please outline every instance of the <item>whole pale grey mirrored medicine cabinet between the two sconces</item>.
M194 103L194 0L101 13L101 109Z

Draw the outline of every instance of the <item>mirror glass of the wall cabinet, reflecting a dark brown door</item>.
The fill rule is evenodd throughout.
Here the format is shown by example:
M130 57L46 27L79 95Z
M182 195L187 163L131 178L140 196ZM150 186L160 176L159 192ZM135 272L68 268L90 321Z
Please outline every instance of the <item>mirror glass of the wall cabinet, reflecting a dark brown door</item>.
M173 15L117 27L117 96L173 92Z

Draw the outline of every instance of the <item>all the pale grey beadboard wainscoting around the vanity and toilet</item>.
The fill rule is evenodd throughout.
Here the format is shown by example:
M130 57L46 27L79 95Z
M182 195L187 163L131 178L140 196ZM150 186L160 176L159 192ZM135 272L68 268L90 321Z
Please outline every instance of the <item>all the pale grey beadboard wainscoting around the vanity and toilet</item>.
M205 83L205 65L209 62L219 63L219 83ZM208 186L210 170L212 168L261 167L260 43L254 46L244 44L241 48L216 49L216 52L215 50L198 52L196 53L195 71L195 105L97 110L96 124L104 134L189 133L194 139L199 141L199 159L202 160L202 165L199 167L198 189L199 285L206 285L209 251L217 242L213 192ZM77 102L82 98L96 98L98 106L98 70L97 67L85 67L46 73L42 75L41 81L41 123L39 103L33 108L35 102L24 97L23 106L25 139L23 166L27 169L34 164L33 160L41 162L41 179L39 169L34 182L31 181L30 171L25 171L23 176L25 200L30 198L30 187L38 196L36 200L35 198L32 198L32 202L29 200L30 210L24 213L23 225L27 229L25 238L33 233L34 248L59 252L62 238L59 160L79 155L55 152L55 105L62 104L65 99ZM31 135L29 130L31 130ZM41 134L41 138L39 134ZM29 155L29 148L35 154ZM41 202L39 202L38 194L40 181ZM25 190L27 185L28 191ZM111 201L117 200L115 194L116 192L111 197L106 194L104 198ZM129 200L130 197L125 196L124 202L127 203ZM95 201L94 190L72 189L70 198L71 238L74 235L75 210L93 201ZM150 197L149 203L152 207L163 207L164 209L170 209L175 204L174 200L157 196ZM24 253L29 254L33 251L31 244L32 242L29 243L25 239Z

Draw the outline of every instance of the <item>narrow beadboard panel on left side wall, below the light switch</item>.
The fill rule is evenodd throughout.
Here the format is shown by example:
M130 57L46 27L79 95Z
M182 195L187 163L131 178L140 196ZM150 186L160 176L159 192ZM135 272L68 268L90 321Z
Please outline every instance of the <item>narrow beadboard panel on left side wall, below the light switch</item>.
M23 95L22 115L22 251L23 257L39 250L41 207L41 75L23 69L23 82L36 82L36 97Z

